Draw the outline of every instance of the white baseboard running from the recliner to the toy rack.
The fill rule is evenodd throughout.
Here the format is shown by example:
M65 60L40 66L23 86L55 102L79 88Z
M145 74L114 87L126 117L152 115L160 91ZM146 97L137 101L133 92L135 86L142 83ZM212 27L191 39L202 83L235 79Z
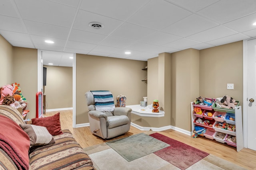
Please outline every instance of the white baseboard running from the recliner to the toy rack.
M184 130L184 129L180 129L180 128L174 127L174 126L142 127L142 126L137 125L137 124L132 123L132 122L131 122L131 125L132 125L133 127L136 127L137 129L140 129L141 131L150 131L150 129L151 129L152 131L160 132L160 131L164 131L164 130L168 130L168 129L173 129L173 130L175 130L175 131L184 133L184 134L186 134L186 135L191 135L191 132L190 132L190 131L186 131L186 130Z

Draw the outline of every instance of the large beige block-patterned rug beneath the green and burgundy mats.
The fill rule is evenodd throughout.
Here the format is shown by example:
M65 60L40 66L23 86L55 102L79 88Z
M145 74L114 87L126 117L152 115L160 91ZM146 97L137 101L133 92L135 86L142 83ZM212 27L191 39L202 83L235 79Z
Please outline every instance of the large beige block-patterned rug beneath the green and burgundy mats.
M148 143L146 144L148 145ZM154 153L128 162L106 143L84 148L96 170L180 170ZM246 170L241 166L209 154L186 170Z

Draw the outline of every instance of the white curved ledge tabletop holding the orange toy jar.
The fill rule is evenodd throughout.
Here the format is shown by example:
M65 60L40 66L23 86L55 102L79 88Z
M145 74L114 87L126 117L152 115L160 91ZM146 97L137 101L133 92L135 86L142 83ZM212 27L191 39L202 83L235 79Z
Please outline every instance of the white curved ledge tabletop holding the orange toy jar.
M164 117L164 111L159 110L159 113L152 112L152 109L147 107L141 107L139 104L138 105L129 105L126 106L132 109L133 114L139 115L142 117Z

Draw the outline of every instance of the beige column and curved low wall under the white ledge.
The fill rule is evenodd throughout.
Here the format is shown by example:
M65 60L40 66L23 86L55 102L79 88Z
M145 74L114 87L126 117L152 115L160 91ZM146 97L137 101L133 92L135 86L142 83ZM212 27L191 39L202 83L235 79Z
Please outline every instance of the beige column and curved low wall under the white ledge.
M159 100L160 110L164 117L141 117L132 115L132 123L141 127L161 128L170 126L171 108L171 77L170 53L161 53L158 57L148 59L148 105Z

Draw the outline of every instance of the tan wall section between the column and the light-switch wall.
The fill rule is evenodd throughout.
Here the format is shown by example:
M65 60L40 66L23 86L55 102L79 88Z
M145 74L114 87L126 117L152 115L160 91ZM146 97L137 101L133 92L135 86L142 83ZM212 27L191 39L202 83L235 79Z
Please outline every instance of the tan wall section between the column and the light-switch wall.
M171 125L191 131L190 102L199 95L199 50L186 49L171 56Z

